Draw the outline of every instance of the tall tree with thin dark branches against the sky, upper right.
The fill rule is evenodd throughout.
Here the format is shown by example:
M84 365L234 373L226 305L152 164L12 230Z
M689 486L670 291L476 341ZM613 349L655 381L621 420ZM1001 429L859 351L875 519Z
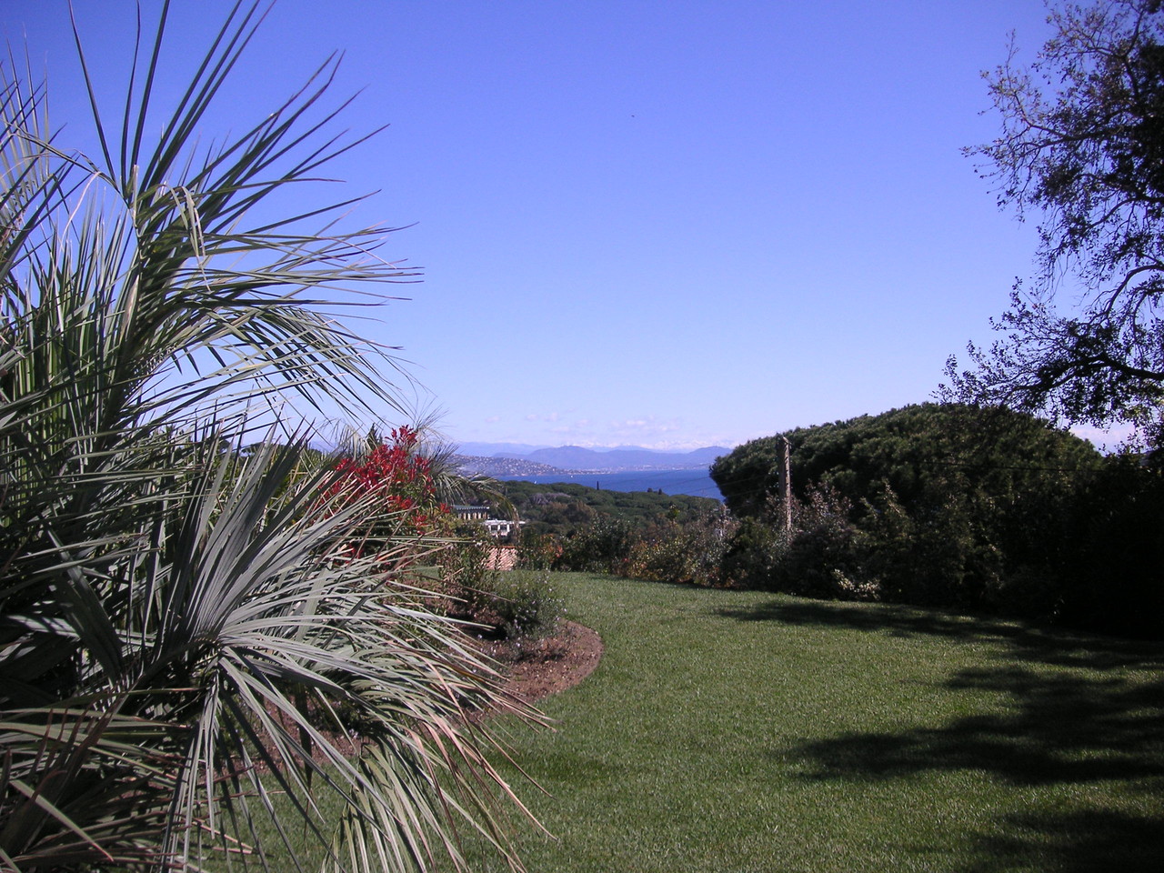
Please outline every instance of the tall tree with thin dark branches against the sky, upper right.
M1164 12L1159 0L1051 10L1028 65L988 74L1000 136L985 158L999 204L1039 222L1038 271L995 324L1005 338L951 359L951 396L1073 421L1158 427L1164 397ZM1056 292L1078 298L1072 314ZM1155 423L1155 424L1154 424Z

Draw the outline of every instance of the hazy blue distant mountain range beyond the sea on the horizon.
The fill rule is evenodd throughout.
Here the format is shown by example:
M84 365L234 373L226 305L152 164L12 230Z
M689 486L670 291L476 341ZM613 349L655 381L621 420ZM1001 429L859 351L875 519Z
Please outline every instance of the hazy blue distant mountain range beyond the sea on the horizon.
M722 446L693 452L660 452L627 446L612 449L560 446L546 448L513 443L468 442L460 447L463 469L487 476L541 473L622 473L626 470L707 469L731 449Z

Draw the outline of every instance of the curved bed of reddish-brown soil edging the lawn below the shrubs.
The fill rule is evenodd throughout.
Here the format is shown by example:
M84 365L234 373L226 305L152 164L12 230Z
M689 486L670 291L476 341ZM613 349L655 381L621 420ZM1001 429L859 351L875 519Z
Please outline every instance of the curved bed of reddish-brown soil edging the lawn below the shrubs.
M563 619L553 637L523 644L494 643L485 651L506 668L505 689L533 703L573 688L594 673L602 658L602 637Z

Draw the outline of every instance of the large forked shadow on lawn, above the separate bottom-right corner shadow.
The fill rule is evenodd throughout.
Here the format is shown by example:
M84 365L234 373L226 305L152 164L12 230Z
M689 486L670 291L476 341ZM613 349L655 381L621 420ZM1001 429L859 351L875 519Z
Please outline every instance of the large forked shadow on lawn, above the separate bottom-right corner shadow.
M1164 645L864 604L776 601L732 617L992 644L979 650L981 666L951 674L942 687L993 693L1003 711L995 705L941 728L805 741L797 753L815 764L816 778L964 768L1015 785L1164 778Z

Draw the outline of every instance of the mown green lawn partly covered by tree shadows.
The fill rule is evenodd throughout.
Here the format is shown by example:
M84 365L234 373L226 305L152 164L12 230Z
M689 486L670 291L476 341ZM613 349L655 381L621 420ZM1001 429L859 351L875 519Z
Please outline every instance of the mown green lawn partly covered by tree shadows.
M606 652L509 732L532 873L1164 868L1164 646L562 575ZM519 779L514 775L514 779ZM485 870L501 866L484 864Z

